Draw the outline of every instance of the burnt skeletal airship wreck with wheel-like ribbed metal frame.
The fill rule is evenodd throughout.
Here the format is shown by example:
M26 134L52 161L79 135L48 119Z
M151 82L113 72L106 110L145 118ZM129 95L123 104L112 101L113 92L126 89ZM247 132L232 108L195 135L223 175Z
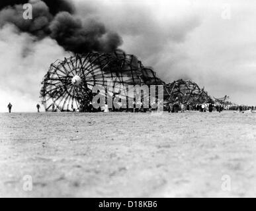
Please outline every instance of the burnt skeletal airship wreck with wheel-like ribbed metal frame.
M175 102L194 106L214 101L190 80L166 84L123 51L57 60L42 80L40 98L46 111L102 111L106 105L113 111L145 110Z

